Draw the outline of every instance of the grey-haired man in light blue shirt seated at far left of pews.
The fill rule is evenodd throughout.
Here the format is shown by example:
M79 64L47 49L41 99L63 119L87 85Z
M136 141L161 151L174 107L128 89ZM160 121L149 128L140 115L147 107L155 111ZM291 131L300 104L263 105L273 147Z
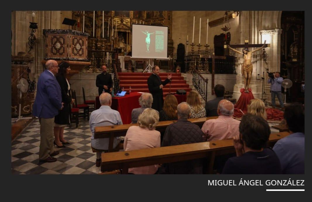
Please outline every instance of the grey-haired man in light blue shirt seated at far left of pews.
M107 126L107 125L122 125L122 120L120 114L116 110L112 110L110 106L112 105L112 96L109 93L102 93L100 95L100 109L92 111L90 115L90 130L92 132L91 137L91 147L100 150L108 150L109 138L99 138L94 139L94 129L97 126ZM113 148L120 142L120 138L116 137L114 139ZM101 152L96 153L96 166L100 167L101 163Z

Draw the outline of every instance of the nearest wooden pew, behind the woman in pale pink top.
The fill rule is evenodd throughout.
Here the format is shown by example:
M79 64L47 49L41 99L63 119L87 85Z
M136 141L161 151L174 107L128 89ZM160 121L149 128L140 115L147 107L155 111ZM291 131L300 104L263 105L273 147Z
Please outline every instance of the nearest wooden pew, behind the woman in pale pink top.
M271 134L268 146L274 145L279 139L286 137L287 135L289 135L288 132ZM232 139L102 153L101 171L121 169L122 174L127 174L128 169L132 167L207 158L208 168L204 172L211 174L215 157L228 153L235 153Z

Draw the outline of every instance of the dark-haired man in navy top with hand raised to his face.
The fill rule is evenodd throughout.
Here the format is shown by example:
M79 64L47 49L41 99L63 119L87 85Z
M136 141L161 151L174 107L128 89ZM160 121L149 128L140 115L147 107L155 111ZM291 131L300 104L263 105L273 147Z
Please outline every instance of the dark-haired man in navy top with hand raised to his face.
M266 148L271 134L266 120L246 114L239 133L233 137L236 157L227 160L222 174L281 174L280 160L271 148Z

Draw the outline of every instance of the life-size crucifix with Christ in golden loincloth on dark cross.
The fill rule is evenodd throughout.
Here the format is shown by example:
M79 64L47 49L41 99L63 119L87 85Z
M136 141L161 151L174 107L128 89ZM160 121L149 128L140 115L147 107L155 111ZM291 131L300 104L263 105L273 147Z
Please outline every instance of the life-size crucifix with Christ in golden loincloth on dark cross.
M264 47L267 47L267 44L265 43L266 42L264 42L264 44L248 44L248 40L245 40L245 44L231 45L232 47L227 45L227 48L232 49L233 51L235 51L238 54L243 55L244 57L244 63L241 65L241 75L244 75L244 85L245 85L246 93L249 93L248 88L249 88L249 84L251 81L251 74L252 74L251 54L253 54L254 52L258 50L261 50ZM259 47L259 48L249 51L248 48L251 48L251 47ZM242 52L240 52L234 48L243 48L243 50Z

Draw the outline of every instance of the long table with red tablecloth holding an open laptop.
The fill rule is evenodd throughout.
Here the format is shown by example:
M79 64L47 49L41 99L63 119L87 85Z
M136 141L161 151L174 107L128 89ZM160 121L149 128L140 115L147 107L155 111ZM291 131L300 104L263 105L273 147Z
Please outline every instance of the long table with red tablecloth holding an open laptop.
M139 97L142 93L131 92L130 94L126 94L123 97L112 97L112 106L113 110L117 110L120 113L121 120L123 124L131 123L131 112L135 108L141 107L139 105ZM176 96L178 103L186 101L186 95L178 95ZM95 97L95 110L99 109L101 106L99 96Z

